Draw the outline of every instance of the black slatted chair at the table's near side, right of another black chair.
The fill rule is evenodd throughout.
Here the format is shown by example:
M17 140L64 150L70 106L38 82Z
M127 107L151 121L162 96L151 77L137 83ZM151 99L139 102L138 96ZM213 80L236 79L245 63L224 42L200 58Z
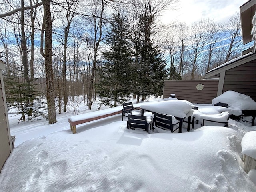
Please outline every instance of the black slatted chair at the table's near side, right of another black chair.
M174 129L174 126L176 126L178 123L172 124L172 116L164 115L160 113L154 113L152 131L154 132L154 128L158 127L163 130L170 130L173 133L179 128L177 127L176 129Z

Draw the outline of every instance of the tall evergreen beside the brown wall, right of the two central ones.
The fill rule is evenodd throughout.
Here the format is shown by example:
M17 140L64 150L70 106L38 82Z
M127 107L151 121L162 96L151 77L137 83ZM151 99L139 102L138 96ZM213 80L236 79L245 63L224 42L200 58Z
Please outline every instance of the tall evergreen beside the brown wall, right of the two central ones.
M160 54L154 39L154 16L144 13L144 15L140 15L138 22L141 37L138 38L140 41L136 42L136 44L140 44L138 46L138 78L135 80L137 86L134 89L137 94L137 102L140 96L144 101L148 95L162 95L164 79L168 76L166 60Z

